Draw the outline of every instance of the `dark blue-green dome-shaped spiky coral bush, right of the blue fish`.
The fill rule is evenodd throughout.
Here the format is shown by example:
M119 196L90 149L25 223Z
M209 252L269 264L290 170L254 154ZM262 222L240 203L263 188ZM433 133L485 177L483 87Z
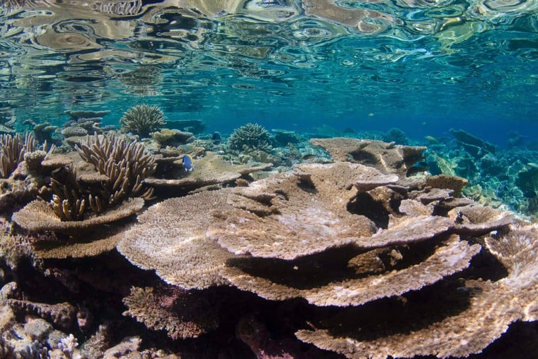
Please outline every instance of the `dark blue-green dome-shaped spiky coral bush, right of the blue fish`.
M238 151L271 151L271 135L261 125L248 123L233 130L228 147Z

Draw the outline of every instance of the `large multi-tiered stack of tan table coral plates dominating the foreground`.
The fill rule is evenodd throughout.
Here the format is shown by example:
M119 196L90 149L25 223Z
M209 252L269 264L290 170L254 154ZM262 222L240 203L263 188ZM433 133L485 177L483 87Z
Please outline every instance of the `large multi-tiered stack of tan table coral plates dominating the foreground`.
M522 280L534 278L534 229L435 187L451 187L446 179L396 185L382 172L297 165L248 187L169 199L118 248L186 289L231 284L269 300L304 298L312 324L297 337L349 358L478 353L511 322L537 317L535 281ZM482 238L494 230L499 239ZM477 272L487 258L494 265L484 243L506 262L506 278Z

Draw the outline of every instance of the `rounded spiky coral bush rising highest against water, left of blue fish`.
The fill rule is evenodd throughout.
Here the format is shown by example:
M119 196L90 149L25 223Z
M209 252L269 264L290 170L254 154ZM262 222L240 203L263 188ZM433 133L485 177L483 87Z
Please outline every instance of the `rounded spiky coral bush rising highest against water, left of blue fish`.
M162 110L158 106L146 104L129 108L120 119L124 132L132 132L140 137L149 137L150 132L159 130L165 123L165 114Z

